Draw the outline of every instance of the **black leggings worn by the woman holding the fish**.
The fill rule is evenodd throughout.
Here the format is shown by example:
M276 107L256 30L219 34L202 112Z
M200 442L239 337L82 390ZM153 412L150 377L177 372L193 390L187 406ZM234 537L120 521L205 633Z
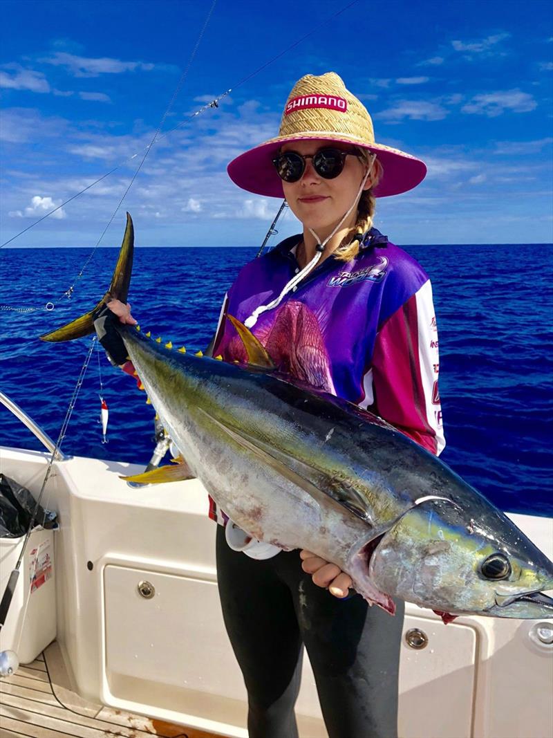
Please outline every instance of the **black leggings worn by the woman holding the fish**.
M337 599L313 584L299 551L255 561L217 528L220 600L248 690L250 738L297 738L302 644L330 738L397 738L403 601L392 617L357 594Z

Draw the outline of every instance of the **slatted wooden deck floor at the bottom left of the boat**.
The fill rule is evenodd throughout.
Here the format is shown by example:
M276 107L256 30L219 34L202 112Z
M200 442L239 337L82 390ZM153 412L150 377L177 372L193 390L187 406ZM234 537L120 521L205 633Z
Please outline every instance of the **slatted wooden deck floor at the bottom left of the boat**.
M50 646L51 648L51 646ZM149 717L92 705L52 685L49 652L0 677L0 738L220 738Z

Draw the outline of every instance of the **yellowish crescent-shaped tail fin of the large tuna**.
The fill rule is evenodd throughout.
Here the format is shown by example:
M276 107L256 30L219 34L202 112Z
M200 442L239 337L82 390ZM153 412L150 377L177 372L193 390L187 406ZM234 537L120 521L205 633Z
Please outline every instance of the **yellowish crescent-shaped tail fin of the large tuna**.
M104 294L99 303L88 313L81 315L75 320L56 328L55 331L45 333L40 337L41 341L72 341L75 338L82 338L88 334L94 333L94 318L102 306L109 300L121 300L122 303L127 302L128 289L131 284L131 272L133 269L133 252L134 252L134 228L131 215L127 213L127 226L125 227L125 235L119 251L119 258L115 265L114 274L111 277L111 283L108 292Z

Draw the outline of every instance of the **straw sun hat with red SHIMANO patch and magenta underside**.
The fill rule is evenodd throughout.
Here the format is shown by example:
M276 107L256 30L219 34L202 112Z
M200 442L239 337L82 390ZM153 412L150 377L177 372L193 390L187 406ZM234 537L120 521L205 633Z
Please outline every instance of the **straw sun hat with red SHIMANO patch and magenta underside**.
M372 120L365 106L346 89L334 72L315 77L305 75L290 93L279 135L240 154L227 170L243 190L269 197L284 197L282 179L272 160L285 142L328 139L355 144L376 154L383 176L373 191L375 197L398 195L422 182L426 165L411 154L375 143Z

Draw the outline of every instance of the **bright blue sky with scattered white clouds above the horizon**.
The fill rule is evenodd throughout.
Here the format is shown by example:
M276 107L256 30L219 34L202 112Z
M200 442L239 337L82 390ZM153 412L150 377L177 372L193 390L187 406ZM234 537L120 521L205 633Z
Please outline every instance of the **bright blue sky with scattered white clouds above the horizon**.
M237 154L277 134L293 83L338 72L379 142L428 176L378 201L397 244L553 241L553 4L546 0L218 0L124 211L142 246L255 246L279 201L239 190ZM1 242L111 176L13 242L93 246L167 108L211 7L184 0L3 0L0 4ZM298 230L288 213L281 235Z

